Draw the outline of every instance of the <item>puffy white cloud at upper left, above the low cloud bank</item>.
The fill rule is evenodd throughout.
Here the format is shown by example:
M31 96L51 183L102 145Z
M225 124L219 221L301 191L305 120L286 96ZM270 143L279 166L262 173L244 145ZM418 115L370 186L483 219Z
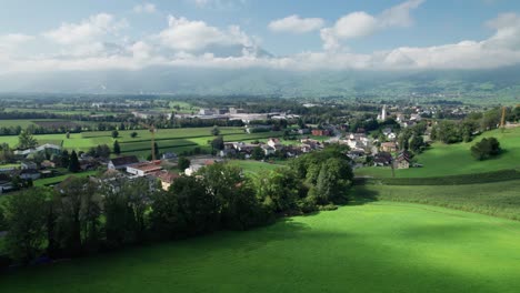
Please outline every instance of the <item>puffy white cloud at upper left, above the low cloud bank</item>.
M88 43L127 27L124 19L116 20L111 14L99 13L80 23L63 22L58 29L43 32L42 36L61 44Z

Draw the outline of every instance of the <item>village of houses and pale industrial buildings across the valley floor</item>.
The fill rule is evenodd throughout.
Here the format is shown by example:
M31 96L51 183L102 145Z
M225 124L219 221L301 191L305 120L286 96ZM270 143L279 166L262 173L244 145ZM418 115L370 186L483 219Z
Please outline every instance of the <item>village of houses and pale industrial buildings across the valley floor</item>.
M306 105L309 107L309 105ZM312 107L319 107L312 104ZM402 111L401 111L402 110ZM132 112L140 119L150 119L158 113L147 111ZM320 151L328 144L344 145L353 169L363 166L381 166L392 169L408 169L421 166L412 161L413 153L408 148L399 145L399 134L402 130L412 129L423 121L423 117L431 117L433 111L420 107L400 109L397 105L382 105L377 121L380 127L377 130L367 131L363 128L353 130L348 123L320 125L304 124L299 128L287 128L284 138L268 138L256 141L221 141L214 152L210 154L188 156L189 165L179 169L179 154L164 152L157 160L140 160L137 155L114 155L107 150L106 155L92 155L88 152L78 152L78 171L90 172L89 176L117 176L148 178L150 182L160 182L167 190L181 174L193 175L197 171L216 162L228 160L256 160L269 164L273 160L288 160L303 153ZM186 117L186 115L184 115ZM254 123L267 119L292 120L299 115L286 112L246 113L242 109L200 109L197 118L208 119L238 119L246 123L246 133L267 132L272 125ZM429 131L431 124L426 125L420 133L423 145L430 142ZM152 150L153 151L153 150ZM63 158L62 146L46 143L37 148L16 150L13 154L20 160L19 165L3 166L0 169L0 192L9 192L20 188L27 188L38 180L66 175L68 158ZM106 170L106 171L102 171ZM94 172L96 171L96 172ZM49 185L59 183L52 182Z

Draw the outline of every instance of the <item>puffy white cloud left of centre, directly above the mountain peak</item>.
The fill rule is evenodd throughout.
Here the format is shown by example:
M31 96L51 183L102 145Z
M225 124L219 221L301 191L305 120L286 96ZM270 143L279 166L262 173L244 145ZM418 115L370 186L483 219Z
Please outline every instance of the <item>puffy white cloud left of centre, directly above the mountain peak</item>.
M227 31L208 26L204 21L168 17L168 28L159 33L162 46L173 50L197 51L209 46L252 46L250 38L239 27L229 27Z

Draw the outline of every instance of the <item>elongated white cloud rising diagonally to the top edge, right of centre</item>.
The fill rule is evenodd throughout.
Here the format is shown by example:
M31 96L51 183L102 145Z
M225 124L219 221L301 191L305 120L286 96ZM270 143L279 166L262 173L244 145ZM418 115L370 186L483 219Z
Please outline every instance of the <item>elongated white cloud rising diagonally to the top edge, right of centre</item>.
M376 17L364 11L343 16L336 21L334 26L321 29L323 49L338 50L342 40L367 37L386 28L409 27L413 22L410 11L422 2L423 0L409 0L389 8Z

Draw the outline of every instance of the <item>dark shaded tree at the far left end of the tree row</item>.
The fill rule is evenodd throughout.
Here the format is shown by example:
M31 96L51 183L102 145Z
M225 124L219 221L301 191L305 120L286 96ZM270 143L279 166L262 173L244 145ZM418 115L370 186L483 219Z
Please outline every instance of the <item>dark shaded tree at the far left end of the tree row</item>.
M40 189L9 196L6 203L7 251L22 263L40 256L46 241L46 193Z

